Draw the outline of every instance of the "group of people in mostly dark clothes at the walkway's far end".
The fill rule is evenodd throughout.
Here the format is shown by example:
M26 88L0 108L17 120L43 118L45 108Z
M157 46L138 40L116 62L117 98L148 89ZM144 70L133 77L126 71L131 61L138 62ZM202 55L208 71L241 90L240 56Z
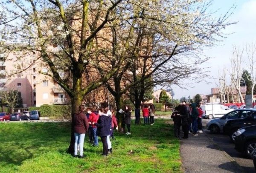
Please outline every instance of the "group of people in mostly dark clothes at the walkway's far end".
M175 111L172 113L171 118L174 121L174 136L180 138L180 126L184 136L182 138L189 138L189 133L193 133L193 136L198 136L198 133L203 133L202 115L200 103L187 104L183 101L175 107Z

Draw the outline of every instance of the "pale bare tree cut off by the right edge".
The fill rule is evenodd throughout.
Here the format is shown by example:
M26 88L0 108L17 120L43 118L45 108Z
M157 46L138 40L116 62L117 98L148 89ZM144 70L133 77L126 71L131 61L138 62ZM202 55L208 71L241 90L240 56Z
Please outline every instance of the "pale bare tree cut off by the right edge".
M247 80L252 82L252 100L253 100L253 91L256 84L256 43L246 44L246 54L249 64L247 64L250 69L250 78L247 76ZM246 74L246 73L245 73Z

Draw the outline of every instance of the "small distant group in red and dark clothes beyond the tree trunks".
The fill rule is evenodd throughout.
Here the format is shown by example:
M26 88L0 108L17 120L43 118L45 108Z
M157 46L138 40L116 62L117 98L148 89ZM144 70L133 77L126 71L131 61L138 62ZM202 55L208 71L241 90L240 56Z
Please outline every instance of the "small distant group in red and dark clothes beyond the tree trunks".
M154 107L154 104L150 104L149 107L143 106L142 115L144 119L144 125L150 124L154 125L154 113L156 111L156 108Z

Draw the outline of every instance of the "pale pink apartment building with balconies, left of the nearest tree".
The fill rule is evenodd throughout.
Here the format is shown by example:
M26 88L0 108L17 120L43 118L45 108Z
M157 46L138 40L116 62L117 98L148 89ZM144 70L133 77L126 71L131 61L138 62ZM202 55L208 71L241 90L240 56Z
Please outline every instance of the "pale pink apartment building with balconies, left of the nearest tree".
M42 63L29 66L33 59L30 55L23 59L26 62L20 62L21 60L14 53L9 54L6 61L3 56L0 56L0 89L20 91L23 107L68 104L69 99L64 89L52 78L39 73L39 71L47 72L47 67L42 66ZM20 73L17 73L18 71ZM11 77L9 77L10 74L12 74Z

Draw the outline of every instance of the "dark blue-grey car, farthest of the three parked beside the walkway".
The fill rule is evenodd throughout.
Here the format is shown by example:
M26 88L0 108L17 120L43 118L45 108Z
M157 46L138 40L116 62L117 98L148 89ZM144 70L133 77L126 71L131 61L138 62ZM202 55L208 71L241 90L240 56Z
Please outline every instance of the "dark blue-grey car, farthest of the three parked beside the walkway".
M223 115L221 118L215 118L210 120L206 127L208 130L211 131L211 133L219 133L223 131L224 125L227 123L228 120L231 119L241 119L245 118L247 114L245 114L244 110L233 110L226 115Z

